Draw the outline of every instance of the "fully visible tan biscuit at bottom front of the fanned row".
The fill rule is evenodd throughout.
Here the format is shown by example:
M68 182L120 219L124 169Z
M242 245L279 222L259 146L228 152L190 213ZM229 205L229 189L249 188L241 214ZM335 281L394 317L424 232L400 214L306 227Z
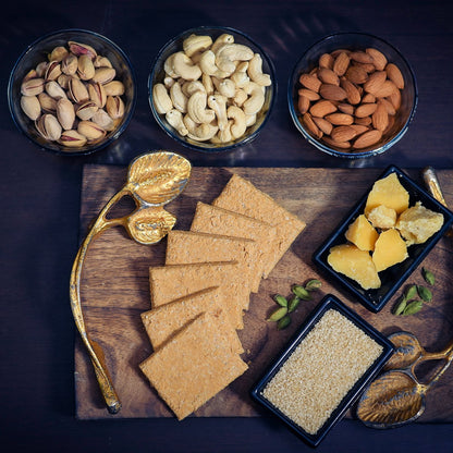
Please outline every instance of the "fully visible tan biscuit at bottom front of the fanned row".
M139 365L150 384L182 420L245 372L247 365L206 313Z

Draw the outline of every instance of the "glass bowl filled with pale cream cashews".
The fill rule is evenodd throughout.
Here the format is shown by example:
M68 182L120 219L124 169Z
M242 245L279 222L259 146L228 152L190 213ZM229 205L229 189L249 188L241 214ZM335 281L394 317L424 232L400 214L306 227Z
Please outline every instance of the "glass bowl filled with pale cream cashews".
M271 60L233 28L200 26L167 42L148 78L162 130L198 151L228 151L264 128L277 94Z

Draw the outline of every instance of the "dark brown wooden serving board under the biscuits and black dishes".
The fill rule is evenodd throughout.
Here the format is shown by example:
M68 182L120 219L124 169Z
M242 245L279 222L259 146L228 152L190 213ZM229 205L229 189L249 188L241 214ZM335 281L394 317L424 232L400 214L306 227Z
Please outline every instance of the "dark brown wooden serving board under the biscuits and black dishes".
M86 166L84 170L81 235L98 216L108 199L125 182L126 168ZM166 209L176 216L177 229L188 230L198 200L211 203L233 173L248 179L291 212L307 223L259 292L250 298L244 330L240 331L249 369L194 414L198 417L249 417L260 411L248 396L254 382L268 367L290 336L297 330L322 296L332 293L384 334L413 332L428 351L440 351L453 336L453 240L443 237L406 283L423 284L421 266L437 278L433 301L418 315L391 314L401 292L379 313L372 314L352 301L342 289L332 286L311 264L314 250L365 194L379 176L379 169L287 169L287 168L194 168L185 192ZM409 174L420 180L419 171ZM446 203L453 206L453 171L438 172ZM131 200L130 200L131 201ZM123 205L123 204L120 204ZM131 204L119 211L131 211ZM117 216L114 212L112 216ZM122 402L122 409L110 415L101 400L88 355L77 336L75 347L76 415L81 419L171 417L138 364L152 350L140 321L140 313L150 308L148 268L164 264L166 240L144 246L128 238L121 228L110 229L91 243L85 260L81 296L89 335L106 354L108 369ZM291 285L311 278L322 281L313 301L304 302L294 313L293 322L278 331L266 318L277 306L271 296L289 295ZM351 414L348 415L351 416ZM453 421L453 366L428 393L427 407L419 421Z

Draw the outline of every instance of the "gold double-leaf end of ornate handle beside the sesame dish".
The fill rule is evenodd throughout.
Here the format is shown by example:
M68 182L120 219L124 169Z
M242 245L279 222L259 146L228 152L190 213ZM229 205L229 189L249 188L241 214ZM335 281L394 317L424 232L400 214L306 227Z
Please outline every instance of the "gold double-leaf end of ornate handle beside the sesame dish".
M408 332L389 339L396 350L384 372L371 382L357 405L357 417L371 428L394 428L417 419L426 407L426 393L445 372L453 359L453 342L438 353L426 352ZM444 360L427 382L420 382L416 367L427 360Z

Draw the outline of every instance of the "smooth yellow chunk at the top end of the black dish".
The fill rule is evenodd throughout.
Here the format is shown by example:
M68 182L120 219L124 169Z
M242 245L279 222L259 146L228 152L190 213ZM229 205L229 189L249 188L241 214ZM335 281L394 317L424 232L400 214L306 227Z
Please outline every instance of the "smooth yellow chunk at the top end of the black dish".
M368 217L371 209L380 205L394 209L396 213L401 213L408 208L409 194L401 185L396 173L390 173L382 180L376 181L368 194L365 216Z

